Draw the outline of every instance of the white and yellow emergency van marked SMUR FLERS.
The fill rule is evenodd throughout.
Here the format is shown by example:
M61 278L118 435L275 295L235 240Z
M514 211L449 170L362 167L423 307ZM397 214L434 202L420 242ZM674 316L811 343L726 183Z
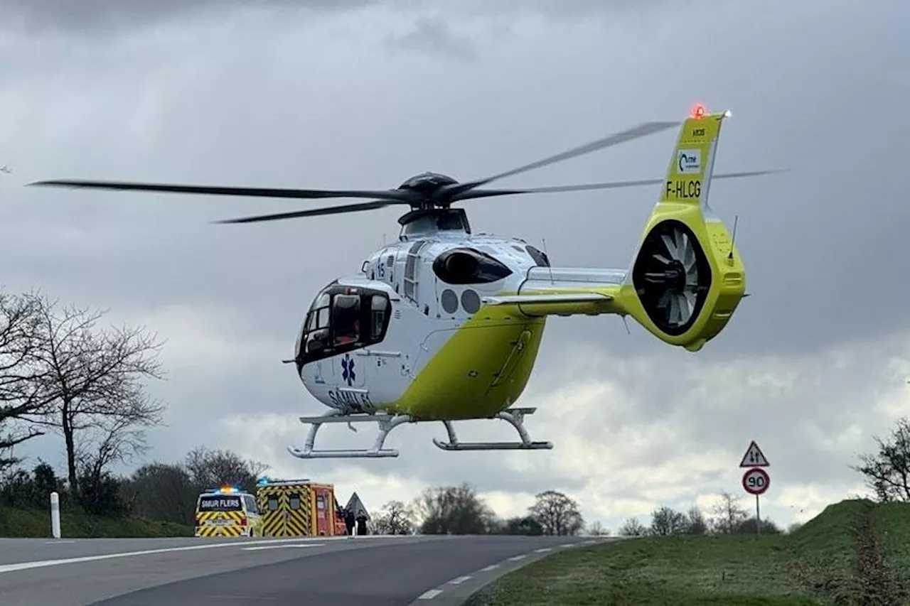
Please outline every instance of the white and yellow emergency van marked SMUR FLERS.
M256 499L236 486L207 490L196 501L197 537L261 537Z

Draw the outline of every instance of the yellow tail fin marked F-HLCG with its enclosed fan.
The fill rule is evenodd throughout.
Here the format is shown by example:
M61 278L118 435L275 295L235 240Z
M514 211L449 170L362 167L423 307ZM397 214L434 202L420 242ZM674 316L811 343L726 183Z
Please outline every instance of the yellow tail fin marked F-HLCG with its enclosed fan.
M745 269L733 236L708 206L727 116L696 109L682 123L660 198L615 294L619 313L690 351L723 330L745 294Z

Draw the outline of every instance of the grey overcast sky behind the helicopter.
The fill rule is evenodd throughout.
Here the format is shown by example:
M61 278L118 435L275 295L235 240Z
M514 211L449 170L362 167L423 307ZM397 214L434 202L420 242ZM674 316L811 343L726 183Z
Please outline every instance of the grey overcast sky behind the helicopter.
M168 339L167 427L149 459L199 444L358 490L370 508L469 481L501 515L565 490L615 529L658 505L743 494L750 439L772 463L763 514L804 520L862 490L848 465L910 413L905 161L910 8L863 3L0 0L0 255L39 287ZM571 5L567 9L565 5ZM249 226L304 206L27 188L42 178L264 187L461 180L546 157L693 101L730 108L715 169L790 172L712 187L748 290L702 352L618 318L550 321L521 404L551 451L447 453L396 429L399 459L301 461L318 414L289 365L313 295L359 269L397 209ZM503 185L662 177L671 133ZM546 238L556 265L628 266L657 189L465 203L475 231ZM322 429L318 445L372 441ZM511 439L470 423L462 439ZM364 441L365 440L365 441ZM21 451L62 465L57 439ZM743 498L750 506L751 500Z

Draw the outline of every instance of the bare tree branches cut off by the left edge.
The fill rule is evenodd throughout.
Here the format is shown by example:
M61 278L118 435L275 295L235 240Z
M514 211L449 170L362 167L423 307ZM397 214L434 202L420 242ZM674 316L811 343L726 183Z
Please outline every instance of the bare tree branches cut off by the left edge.
M19 462L12 455L16 445L45 433L31 422L53 399L42 389L41 308L33 293L0 292L0 470Z

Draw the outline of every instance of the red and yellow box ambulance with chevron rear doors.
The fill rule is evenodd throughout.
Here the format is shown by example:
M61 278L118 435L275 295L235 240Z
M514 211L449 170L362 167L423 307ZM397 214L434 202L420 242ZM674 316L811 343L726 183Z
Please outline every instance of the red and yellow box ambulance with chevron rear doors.
M257 505L267 537L326 537L346 534L335 487L310 480L260 478Z

